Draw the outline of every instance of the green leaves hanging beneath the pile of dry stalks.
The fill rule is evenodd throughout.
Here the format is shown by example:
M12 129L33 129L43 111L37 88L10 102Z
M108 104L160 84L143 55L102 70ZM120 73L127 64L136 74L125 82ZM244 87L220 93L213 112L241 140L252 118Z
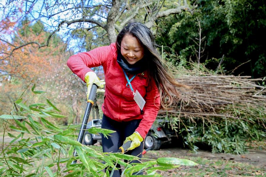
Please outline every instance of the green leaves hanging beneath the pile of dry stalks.
M233 110L228 106L227 111L230 109ZM253 115L258 115L255 113L257 111L259 112L254 110ZM253 115L242 115L237 119L213 117L206 120L194 118L191 121L187 118L171 117L169 120L173 128L182 135L184 143L194 151L198 150L198 143L205 143L211 147L213 153L244 154L251 141L262 141L266 137L265 128L260 122L264 115L261 118ZM244 119L246 117L248 118ZM178 129L180 122L181 128Z

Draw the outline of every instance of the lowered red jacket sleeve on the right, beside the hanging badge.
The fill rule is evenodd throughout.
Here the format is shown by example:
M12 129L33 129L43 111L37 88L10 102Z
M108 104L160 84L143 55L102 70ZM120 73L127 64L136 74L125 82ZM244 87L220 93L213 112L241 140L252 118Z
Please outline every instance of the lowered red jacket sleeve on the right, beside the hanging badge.
M143 139L146 137L149 129L151 128L151 125L155 121L160 108L160 94L153 79L151 81L150 87L151 89L146 92L146 96L144 98L146 103L144 106L145 111L143 118L140 121L140 125L136 129L136 131L140 133Z

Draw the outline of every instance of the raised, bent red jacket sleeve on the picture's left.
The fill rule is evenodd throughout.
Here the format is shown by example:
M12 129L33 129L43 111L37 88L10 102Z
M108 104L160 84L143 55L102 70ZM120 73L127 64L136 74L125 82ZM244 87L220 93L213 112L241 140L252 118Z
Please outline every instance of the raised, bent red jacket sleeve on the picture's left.
M69 57L67 65L70 70L84 81L86 73L93 71L91 67L104 65L113 53L116 52L115 44L93 49L89 52L82 52Z

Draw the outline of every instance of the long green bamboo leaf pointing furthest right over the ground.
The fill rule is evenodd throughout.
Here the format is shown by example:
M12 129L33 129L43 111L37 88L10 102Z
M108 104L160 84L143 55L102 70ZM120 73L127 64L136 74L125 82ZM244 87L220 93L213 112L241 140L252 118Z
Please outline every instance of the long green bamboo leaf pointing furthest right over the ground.
M196 162L187 159L180 159L175 157L160 157L157 160L158 165L161 166L173 166L173 165L198 165Z

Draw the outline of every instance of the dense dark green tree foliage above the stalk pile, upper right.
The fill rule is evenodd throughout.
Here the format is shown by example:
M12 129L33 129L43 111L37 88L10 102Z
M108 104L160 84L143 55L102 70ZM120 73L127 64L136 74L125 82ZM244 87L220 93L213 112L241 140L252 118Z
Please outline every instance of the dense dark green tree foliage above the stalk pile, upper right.
M206 67L215 70L224 55L222 67L228 73L264 77L265 1L197 0L191 4L194 2L198 8L193 14L184 11L158 20L161 30L157 31L157 43L171 47L181 57L197 61L200 23L201 39L205 37L201 42L200 61L211 59ZM247 63L241 65L244 62Z

